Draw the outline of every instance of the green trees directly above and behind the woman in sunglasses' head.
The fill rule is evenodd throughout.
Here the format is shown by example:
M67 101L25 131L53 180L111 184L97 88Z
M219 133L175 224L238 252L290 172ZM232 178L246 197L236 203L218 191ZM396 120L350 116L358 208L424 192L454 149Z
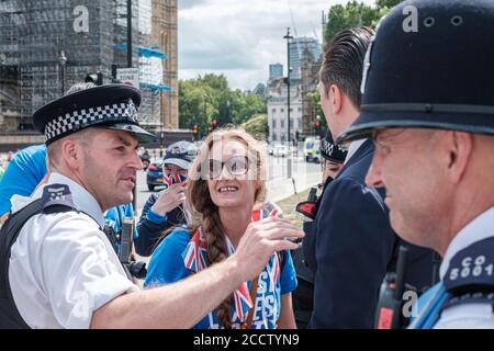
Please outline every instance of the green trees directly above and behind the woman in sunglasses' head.
M254 115L266 113L266 103L257 94L231 90L223 75L205 75L179 81L179 126L192 128L197 123L201 136L211 122L218 125L243 124Z

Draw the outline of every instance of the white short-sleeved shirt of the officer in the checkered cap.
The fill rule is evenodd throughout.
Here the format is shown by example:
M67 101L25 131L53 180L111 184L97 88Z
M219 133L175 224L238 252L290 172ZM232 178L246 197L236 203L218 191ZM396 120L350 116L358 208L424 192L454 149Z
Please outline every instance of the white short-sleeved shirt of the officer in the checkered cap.
M12 246L9 282L19 313L31 328L89 328L92 313L138 287L127 280L104 233L96 199L67 177L53 173L47 184L70 189L75 211L35 215ZM40 199L12 200L16 212Z

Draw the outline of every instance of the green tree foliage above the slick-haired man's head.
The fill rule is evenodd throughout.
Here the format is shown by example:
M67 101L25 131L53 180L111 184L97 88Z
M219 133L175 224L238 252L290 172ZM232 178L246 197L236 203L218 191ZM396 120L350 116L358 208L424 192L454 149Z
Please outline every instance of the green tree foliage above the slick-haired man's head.
M327 25L324 33L324 43L330 42L336 33L353 26L369 25L374 27L379 20L390 9L403 0L377 0L375 5L367 5L352 0L347 4L336 4L329 8Z

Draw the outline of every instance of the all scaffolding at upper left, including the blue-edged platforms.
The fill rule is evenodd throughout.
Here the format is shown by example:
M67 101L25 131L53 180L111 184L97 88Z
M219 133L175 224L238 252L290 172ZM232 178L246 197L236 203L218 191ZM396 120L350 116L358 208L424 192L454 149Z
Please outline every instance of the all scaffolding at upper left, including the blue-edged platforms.
M159 0L132 0L133 67L138 47L153 43L153 11ZM0 103L16 106L19 128L32 128L31 116L89 72L111 81L111 67L127 67L127 0L0 0ZM78 23L86 21L86 25ZM61 53L67 60L60 60ZM7 75L5 72L9 72ZM10 82L10 86L9 86ZM64 89L65 88L65 89ZM142 88L139 117L161 125L161 92ZM12 101L12 97L13 101ZM0 105L1 106L1 105Z

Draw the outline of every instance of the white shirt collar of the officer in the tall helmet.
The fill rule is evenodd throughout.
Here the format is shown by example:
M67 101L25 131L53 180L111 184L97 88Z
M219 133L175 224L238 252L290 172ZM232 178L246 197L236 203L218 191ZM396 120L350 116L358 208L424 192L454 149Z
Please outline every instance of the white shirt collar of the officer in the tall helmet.
M476 216L451 240L446 250L440 267L441 280L449 268L449 262L459 251L469 247L473 242L494 237L494 206Z

